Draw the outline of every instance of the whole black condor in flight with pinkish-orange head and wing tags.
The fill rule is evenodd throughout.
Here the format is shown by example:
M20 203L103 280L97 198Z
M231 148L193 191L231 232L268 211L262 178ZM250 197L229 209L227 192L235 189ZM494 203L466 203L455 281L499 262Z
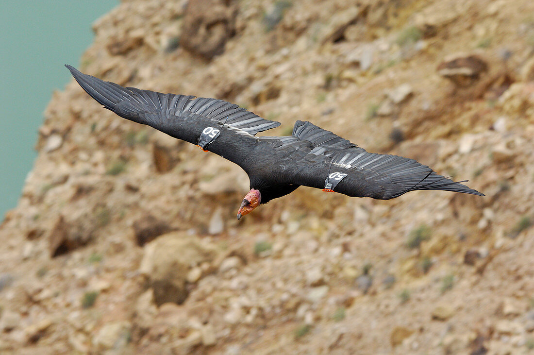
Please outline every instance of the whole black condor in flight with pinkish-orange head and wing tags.
M123 88L66 67L83 90L117 115L221 155L245 170L250 191L238 219L301 185L380 200L414 190L484 196L413 159L368 153L310 122L297 121L291 136L255 137L280 122L223 100Z

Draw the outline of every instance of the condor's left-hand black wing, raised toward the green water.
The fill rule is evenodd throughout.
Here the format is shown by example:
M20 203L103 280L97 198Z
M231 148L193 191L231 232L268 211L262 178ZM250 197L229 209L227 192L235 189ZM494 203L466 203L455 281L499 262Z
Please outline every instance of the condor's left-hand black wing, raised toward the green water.
M123 88L66 67L85 92L117 115L200 144L247 172L253 163L250 152L264 144L254 137L256 133L280 125L224 100Z

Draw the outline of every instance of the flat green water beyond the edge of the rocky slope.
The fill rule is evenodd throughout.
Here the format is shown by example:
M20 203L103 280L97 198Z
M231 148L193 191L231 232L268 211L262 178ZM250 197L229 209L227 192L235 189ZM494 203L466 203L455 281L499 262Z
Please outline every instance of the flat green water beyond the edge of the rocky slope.
M117 0L0 0L0 222L17 204L52 92L70 80L91 23Z

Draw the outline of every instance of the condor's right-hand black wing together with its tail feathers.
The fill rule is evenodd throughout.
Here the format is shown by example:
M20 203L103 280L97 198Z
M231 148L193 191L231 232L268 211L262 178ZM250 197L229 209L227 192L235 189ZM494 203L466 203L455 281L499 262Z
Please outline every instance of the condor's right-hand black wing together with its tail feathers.
M297 157L288 171L294 184L380 200L396 198L414 190L444 190L483 196L462 185L462 182L453 182L438 175L413 159L368 153L310 122L297 121L293 135L313 145L311 151Z

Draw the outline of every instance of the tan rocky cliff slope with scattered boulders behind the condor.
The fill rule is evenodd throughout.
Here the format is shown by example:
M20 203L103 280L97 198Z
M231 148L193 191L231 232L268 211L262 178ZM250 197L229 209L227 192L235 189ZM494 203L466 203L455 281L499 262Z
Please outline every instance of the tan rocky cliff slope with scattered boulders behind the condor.
M534 348L533 11L527 0L122 2L93 26L84 72L237 102L282 122L269 135L310 120L486 197L299 188L238 223L239 167L120 119L71 82L0 228L0 349Z

